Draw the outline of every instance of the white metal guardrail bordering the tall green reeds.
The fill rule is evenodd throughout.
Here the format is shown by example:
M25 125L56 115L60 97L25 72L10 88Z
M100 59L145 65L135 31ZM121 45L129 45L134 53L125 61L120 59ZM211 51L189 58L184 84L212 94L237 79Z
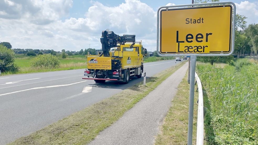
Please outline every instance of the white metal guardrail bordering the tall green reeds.
M202 92L201 80L198 77L196 72L195 72L195 79L198 85L198 115L197 115L196 145L203 145L203 141L204 141L203 92Z

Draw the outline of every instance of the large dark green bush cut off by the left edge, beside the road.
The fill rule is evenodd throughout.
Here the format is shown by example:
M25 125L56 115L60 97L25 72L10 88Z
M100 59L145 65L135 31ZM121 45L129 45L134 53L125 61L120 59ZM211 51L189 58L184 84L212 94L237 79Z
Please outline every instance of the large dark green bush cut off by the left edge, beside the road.
M4 45L0 45L0 71L17 72L19 67L14 64L15 53Z

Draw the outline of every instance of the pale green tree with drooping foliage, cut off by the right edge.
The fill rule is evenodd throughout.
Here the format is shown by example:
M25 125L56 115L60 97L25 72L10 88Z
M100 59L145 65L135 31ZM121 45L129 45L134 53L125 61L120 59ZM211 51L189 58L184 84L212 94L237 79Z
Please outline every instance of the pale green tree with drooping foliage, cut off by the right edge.
M246 29L246 35L250 39L251 50L257 55L258 51L258 24L250 24Z

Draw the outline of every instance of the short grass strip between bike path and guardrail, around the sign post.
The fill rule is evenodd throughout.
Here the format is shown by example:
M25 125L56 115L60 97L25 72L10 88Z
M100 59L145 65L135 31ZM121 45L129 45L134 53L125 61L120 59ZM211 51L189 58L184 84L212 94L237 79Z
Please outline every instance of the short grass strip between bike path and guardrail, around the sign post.
M172 106L169 109L161 132L157 135L155 145L186 145L187 128L188 128L188 109L189 109L189 84L187 74L182 82L178 85L178 90L172 100ZM196 144L196 125L198 92L194 94L194 111L193 111L193 144Z

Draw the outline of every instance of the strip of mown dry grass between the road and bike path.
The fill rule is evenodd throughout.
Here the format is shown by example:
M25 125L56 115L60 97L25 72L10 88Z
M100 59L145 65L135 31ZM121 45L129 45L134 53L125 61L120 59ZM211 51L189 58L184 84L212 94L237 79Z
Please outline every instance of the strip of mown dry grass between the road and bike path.
M146 86L143 82L137 83L29 136L16 139L9 145L87 144L184 64L185 62L182 62L176 67L171 67L146 79Z

